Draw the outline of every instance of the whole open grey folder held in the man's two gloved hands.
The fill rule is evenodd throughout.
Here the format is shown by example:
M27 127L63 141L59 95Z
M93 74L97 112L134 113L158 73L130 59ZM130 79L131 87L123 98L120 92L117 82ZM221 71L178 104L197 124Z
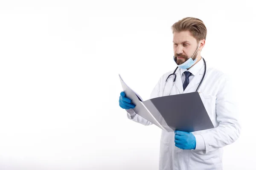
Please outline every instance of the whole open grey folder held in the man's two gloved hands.
M214 128L198 92L143 99L119 75L122 88L136 105L135 113L168 132L194 132Z

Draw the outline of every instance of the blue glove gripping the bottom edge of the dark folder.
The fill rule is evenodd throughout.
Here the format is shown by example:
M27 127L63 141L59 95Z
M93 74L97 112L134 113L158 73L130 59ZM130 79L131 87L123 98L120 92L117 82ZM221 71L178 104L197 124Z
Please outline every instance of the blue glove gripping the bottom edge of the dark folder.
M175 146L180 149L195 149L195 136L193 133L175 130Z

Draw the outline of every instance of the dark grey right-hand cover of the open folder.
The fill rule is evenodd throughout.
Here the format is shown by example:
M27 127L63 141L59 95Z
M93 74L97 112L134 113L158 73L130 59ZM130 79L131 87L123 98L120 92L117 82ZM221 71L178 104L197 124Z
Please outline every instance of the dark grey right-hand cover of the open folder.
M198 92L157 97L143 103L149 111L157 108L172 129L194 132L214 127Z

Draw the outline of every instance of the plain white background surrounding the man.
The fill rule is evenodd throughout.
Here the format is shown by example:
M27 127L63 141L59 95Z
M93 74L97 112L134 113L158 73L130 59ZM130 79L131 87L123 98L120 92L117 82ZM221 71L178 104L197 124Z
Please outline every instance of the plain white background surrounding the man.
M225 170L255 168L253 1L0 1L0 169L157 170L160 128L129 120L118 74L144 100L173 70L173 23L207 26L202 56L230 74L242 133Z

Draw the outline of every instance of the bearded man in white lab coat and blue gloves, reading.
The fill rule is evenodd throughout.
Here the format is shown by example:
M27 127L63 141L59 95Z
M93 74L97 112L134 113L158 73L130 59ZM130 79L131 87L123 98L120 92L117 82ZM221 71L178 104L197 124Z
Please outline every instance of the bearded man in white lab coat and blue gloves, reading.
M195 92L198 89L204 107L214 128L192 133L175 130L162 130L160 139L160 170L221 170L223 147L235 142L240 135L236 105L233 102L230 82L225 74L210 67L201 57L207 28L204 23L193 17L179 20L172 26L174 60L177 63L177 78L163 74L154 87L151 98ZM165 88L164 88L165 87ZM143 125L151 122L136 114L135 105L121 92L119 105L126 109L128 118ZM186 103L180 103L186 107Z

